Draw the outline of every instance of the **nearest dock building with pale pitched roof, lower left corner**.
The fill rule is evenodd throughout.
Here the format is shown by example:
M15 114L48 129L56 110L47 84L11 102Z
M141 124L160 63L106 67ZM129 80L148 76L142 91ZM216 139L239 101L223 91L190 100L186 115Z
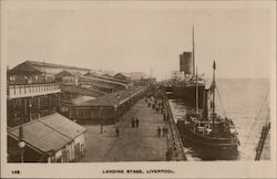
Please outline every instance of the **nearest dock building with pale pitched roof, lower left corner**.
M8 128L8 161L79 161L85 150L85 130L58 113ZM20 140L25 144L23 150L19 150Z

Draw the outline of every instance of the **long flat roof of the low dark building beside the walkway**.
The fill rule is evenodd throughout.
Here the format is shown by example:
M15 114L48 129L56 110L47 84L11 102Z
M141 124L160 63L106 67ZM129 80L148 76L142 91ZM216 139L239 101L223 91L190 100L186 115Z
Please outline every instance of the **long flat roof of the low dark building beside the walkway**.
M100 96L98 98L80 103L75 106L120 106L142 90L144 90L143 86L130 86L126 90Z

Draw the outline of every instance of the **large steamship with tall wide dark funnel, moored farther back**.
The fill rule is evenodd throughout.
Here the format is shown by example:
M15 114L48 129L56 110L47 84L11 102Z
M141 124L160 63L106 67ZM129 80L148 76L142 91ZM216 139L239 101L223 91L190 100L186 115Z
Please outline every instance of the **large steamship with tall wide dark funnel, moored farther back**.
M193 30L193 51L183 52L179 54L179 71L173 72L171 85L165 90L172 94L173 98L185 99L186 103L199 105L203 107L203 95L205 90L205 82L202 76L198 78L198 93L196 96L196 75L195 75L195 55L194 55L194 30ZM197 101L197 102L196 102Z

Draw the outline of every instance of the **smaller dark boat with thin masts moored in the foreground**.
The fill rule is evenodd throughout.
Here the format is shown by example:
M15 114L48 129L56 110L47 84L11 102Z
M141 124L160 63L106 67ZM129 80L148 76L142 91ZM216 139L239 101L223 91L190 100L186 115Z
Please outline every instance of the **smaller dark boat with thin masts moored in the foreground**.
M211 88L205 90L204 93L204 110L199 110L198 104L196 104L194 112L187 113L183 119L177 120L177 127L181 136L202 146L217 149L237 150L239 139L237 137L234 122L227 117L223 118L217 116L215 113L215 69L216 64L214 62L213 84ZM197 86L198 85L196 85L196 98L198 96ZM211 91L213 95L212 117L208 109L208 98Z

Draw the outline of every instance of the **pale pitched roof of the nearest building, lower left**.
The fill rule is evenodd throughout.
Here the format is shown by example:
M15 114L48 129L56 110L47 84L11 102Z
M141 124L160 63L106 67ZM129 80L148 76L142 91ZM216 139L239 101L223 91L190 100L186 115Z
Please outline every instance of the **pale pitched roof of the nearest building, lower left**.
M41 152L59 150L85 131L85 128L54 113L23 124L23 140ZM19 126L8 129L8 135L19 139Z

